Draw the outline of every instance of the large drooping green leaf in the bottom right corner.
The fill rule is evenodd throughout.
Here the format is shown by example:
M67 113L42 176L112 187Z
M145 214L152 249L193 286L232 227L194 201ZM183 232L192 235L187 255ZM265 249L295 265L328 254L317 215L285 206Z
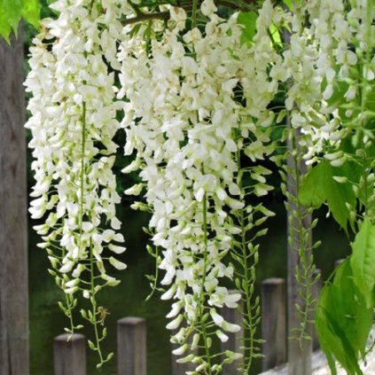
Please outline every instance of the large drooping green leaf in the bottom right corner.
M363 374L358 359L365 354L372 309L366 307L354 279L347 260L336 271L332 284L324 285L316 309L316 331L332 375L337 374L335 359L349 375Z

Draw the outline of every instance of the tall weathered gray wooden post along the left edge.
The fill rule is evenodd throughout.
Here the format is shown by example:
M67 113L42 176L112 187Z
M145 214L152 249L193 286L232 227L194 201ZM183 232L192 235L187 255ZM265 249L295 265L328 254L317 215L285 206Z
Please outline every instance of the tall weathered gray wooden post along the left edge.
M0 37L0 374L27 375L27 187L23 27Z

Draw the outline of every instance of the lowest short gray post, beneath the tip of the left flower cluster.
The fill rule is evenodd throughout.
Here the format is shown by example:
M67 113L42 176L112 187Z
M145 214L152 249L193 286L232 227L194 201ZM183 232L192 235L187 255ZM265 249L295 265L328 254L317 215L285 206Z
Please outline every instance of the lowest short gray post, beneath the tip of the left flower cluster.
M86 339L64 333L53 340L54 375L86 375Z

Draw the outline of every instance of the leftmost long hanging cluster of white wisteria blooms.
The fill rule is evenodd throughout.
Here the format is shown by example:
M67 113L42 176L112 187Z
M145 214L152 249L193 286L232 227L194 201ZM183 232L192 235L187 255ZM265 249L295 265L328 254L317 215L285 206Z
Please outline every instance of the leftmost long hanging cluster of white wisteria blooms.
M120 202L112 167L120 128L113 73L116 40L121 33L117 0L59 0L51 8L57 20L43 20L34 40L27 76L32 93L27 128L32 132L35 172L30 213L65 293L93 297L118 280L125 251L115 204ZM112 267L111 266L111 267ZM70 309L72 305L67 306ZM91 320L96 320L94 309ZM70 314L70 313L69 313Z

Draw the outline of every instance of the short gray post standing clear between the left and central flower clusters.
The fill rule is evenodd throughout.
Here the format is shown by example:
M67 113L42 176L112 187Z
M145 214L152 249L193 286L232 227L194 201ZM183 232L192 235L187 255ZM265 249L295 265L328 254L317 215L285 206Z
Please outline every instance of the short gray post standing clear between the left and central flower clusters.
M146 322L124 317L117 322L118 375L146 375Z

